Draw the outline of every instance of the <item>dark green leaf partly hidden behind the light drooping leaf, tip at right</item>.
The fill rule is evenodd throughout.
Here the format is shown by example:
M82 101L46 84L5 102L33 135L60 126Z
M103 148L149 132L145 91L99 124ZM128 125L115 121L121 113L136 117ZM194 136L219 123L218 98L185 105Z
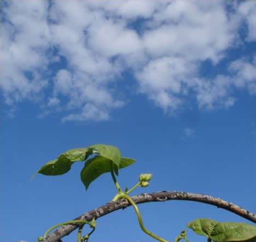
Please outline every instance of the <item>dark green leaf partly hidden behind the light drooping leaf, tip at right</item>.
M111 171L111 162L113 161L101 155L96 155L94 158L91 158L85 162L85 166L81 171L80 176L86 190L92 181L100 177L101 174ZM135 160L133 159L121 158L119 168L130 166L134 162Z

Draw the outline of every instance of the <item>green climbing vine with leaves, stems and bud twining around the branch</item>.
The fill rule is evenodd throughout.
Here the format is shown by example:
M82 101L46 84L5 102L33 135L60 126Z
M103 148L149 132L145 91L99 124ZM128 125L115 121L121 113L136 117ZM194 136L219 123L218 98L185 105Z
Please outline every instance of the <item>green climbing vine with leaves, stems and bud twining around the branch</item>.
M120 201L121 199L127 200L135 210L139 226L141 227L142 231L158 241L168 242L168 240L159 237L158 235L148 231L148 229L144 227L141 213L139 212L139 209L135 201L133 201L133 199L129 196L129 194L132 191L134 191L137 187L149 186L149 181L152 179L153 174L141 174L136 185L134 185L130 190L126 187L123 191L119 186L116 176L118 176L119 174L119 169L132 165L135 162L135 160L122 157L120 150L117 147L109 146L107 144L95 144L88 148L71 149L61 154L57 159L47 162L44 166L42 166L39 169L38 172L36 172L36 174L40 173L46 176L62 175L67 173L71 169L71 166L74 164L74 162L77 161L85 161L84 167L80 172L80 178L86 190L88 190L88 187L92 183L92 181L100 177L101 174L110 172L114 185L117 189L117 195L113 197L112 202L115 203L117 201ZM34 176L36 174L34 174ZM161 199L159 201L161 201ZM212 202L211 204L214 204L214 202ZM225 205L223 206L225 208ZM237 214L240 213L239 208L238 211L237 209L232 208L227 209L230 211L234 210L234 213ZM241 213L243 213L243 211ZM77 225L77 241L88 242L91 234L95 231L96 219L97 217L94 217L91 220L91 222L83 219L75 219L72 221L59 223L58 225L49 228L48 231L44 233L43 237L38 237L38 241L49 241L49 233L57 227L65 225ZM89 225L92 228L92 230L90 233L83 236L82 231L83 227L86 224ZM252 226L247 223L218 222L211 219L196 219L188 223L187 227L193 229L195 233L205 236L208 242L210 242L211 240L218 242L256 242L256 226ZM175 238L175 242L178 242L181 239L184 239L186 242L189 242L187 238L187 231L183 230Z

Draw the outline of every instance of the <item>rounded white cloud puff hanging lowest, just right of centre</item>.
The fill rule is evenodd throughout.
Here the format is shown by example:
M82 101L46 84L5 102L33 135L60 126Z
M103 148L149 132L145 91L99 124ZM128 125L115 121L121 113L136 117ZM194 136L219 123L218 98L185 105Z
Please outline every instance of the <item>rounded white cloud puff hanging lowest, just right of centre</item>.
M195 69L193 63L181 57L156 58L136 73L139 91L147 93L165 111L175 110L182 102L177 94L186 91L184 84Z

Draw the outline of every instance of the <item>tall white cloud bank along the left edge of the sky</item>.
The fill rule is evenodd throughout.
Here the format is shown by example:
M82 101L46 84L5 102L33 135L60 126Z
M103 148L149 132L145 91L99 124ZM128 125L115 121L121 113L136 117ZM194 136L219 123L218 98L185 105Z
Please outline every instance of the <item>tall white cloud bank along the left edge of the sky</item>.
M7 104L13 104L34 98L48 84L42 71L48 64L44 52L49 46L49 29L44 1L26 7L21 2L8 5L4 13L9 22L1 25L1 87Z

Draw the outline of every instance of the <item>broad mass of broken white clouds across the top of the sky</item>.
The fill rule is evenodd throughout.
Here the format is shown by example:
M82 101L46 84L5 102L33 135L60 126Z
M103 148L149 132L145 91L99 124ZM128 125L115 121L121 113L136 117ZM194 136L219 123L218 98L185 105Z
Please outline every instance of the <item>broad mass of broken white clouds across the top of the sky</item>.
M3 8L1 87L9 105L37 100L67 111L63 120L108 120L126 103L116 82L127 69L137 92L165 112L191 93L201 108L234 105L236 89L255 93L255 60L233 59L229 75L200 76L203 61L214 68L244 44L243 23L246 41L255 40L253 1L229 3L230 12L223 1L54 1L50 8L24 1Z

